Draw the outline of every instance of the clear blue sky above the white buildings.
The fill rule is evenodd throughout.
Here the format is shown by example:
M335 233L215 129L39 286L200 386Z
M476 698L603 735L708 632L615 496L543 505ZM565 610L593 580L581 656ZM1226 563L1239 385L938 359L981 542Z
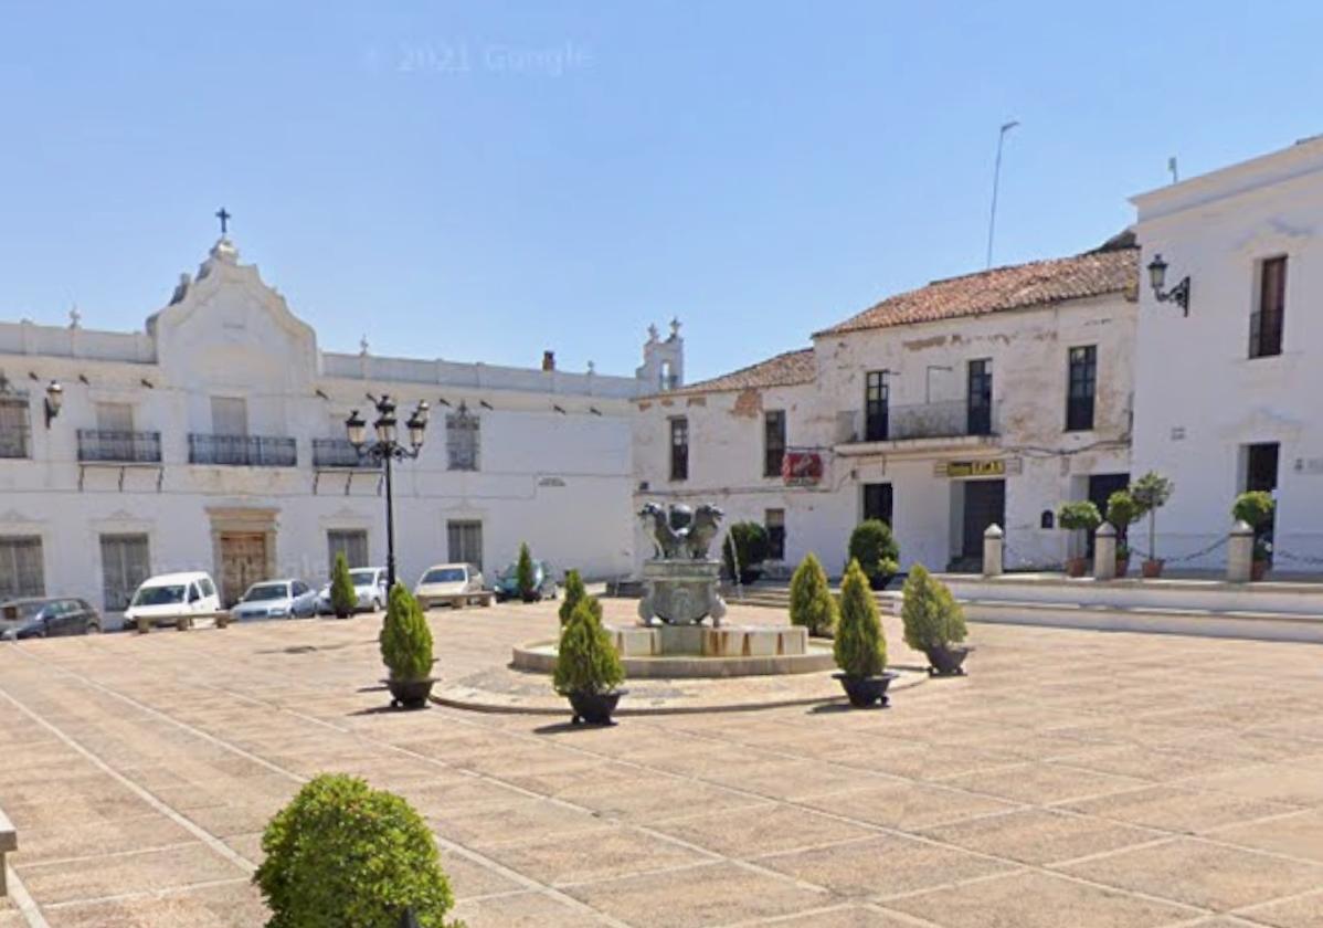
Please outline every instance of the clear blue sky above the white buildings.
M0 3L0 318L140 328L234 214L328 349L689 379L1323 131L1316 3Z

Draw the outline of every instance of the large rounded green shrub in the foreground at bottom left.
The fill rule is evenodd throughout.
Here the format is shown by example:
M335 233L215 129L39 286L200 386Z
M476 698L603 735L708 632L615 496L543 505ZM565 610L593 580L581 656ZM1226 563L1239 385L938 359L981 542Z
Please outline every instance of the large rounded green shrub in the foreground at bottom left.
M454 905L437 842L393 793L343 773L310 781L262 834L253 875L271 909L267 928L397 928L413 908L423 928Z

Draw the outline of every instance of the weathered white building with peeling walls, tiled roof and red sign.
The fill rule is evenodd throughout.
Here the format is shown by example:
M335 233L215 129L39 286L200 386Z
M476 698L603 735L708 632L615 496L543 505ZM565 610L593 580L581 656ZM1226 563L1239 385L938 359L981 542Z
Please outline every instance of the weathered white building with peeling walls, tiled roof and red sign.
M812 551L839 572L871 516L905 565L976 567L992 523L1011 567L1060 564L1057 506L1129 479L1135 267L1118 237L937 281L811 348L642 397L635 502L765 523L786 567Z

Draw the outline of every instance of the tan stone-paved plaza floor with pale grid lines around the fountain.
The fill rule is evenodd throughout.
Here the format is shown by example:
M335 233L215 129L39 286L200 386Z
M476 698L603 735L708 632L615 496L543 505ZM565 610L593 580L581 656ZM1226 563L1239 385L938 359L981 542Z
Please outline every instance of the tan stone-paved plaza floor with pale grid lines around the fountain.
M553 604L430 620L447 680L556 629ZM385 711L377 626L0 647L0 928L259 925L261 830L323 770L422 812L471 928L1323 925L1315 646L978 625L968 678L885 711L576 729Z

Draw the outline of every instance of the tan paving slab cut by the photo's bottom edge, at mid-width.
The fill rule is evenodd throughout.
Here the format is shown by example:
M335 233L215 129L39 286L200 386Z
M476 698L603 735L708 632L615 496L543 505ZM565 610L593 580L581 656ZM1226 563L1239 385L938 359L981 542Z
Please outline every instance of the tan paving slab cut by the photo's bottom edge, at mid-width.
M568 890L599 912L639 928L721 925L819 908L827 894L717 863L602 880Z

